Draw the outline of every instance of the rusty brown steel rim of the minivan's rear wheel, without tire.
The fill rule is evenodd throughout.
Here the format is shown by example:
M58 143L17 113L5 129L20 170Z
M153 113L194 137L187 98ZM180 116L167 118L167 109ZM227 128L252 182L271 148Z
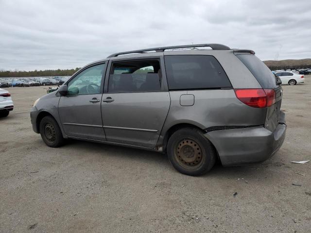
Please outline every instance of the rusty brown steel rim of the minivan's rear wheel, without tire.
M190 138L185 138L175 145L174 156L177 163L186 169L195 169L203 162L200 145Z

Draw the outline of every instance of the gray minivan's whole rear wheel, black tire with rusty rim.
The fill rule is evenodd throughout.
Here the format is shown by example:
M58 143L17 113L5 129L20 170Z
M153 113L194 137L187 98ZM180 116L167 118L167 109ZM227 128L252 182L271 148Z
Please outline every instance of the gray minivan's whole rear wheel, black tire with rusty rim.
M174 168L180 173L200 176L216 162L217 153L199 129L182 128L169 138L167 154Z

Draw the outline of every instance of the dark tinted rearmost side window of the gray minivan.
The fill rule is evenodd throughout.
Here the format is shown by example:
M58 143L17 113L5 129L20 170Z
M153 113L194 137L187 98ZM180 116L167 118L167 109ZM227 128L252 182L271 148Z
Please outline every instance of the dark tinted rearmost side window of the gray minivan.
M170 90L231 87L223 67L213 56L168 55L164 59Z

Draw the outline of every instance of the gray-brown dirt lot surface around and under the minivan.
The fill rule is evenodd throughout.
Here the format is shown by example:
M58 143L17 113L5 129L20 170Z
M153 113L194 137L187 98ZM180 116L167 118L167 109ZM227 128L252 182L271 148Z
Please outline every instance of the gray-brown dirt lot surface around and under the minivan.
M156 152L81 141L49 148L24 112L46 91L7 88L15 109L0 119L0 232L310 233L311 162L290 163L311 159L306 80L283 86L288 128L274 157L202 177Z

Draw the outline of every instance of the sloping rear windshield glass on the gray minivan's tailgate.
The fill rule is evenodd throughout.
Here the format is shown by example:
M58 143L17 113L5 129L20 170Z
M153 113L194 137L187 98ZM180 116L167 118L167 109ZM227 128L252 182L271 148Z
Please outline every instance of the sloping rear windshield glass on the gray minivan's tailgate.
M258 57L252 54L239 54L236 56L251 71L262 88L276 89L278 87L276 77Z

